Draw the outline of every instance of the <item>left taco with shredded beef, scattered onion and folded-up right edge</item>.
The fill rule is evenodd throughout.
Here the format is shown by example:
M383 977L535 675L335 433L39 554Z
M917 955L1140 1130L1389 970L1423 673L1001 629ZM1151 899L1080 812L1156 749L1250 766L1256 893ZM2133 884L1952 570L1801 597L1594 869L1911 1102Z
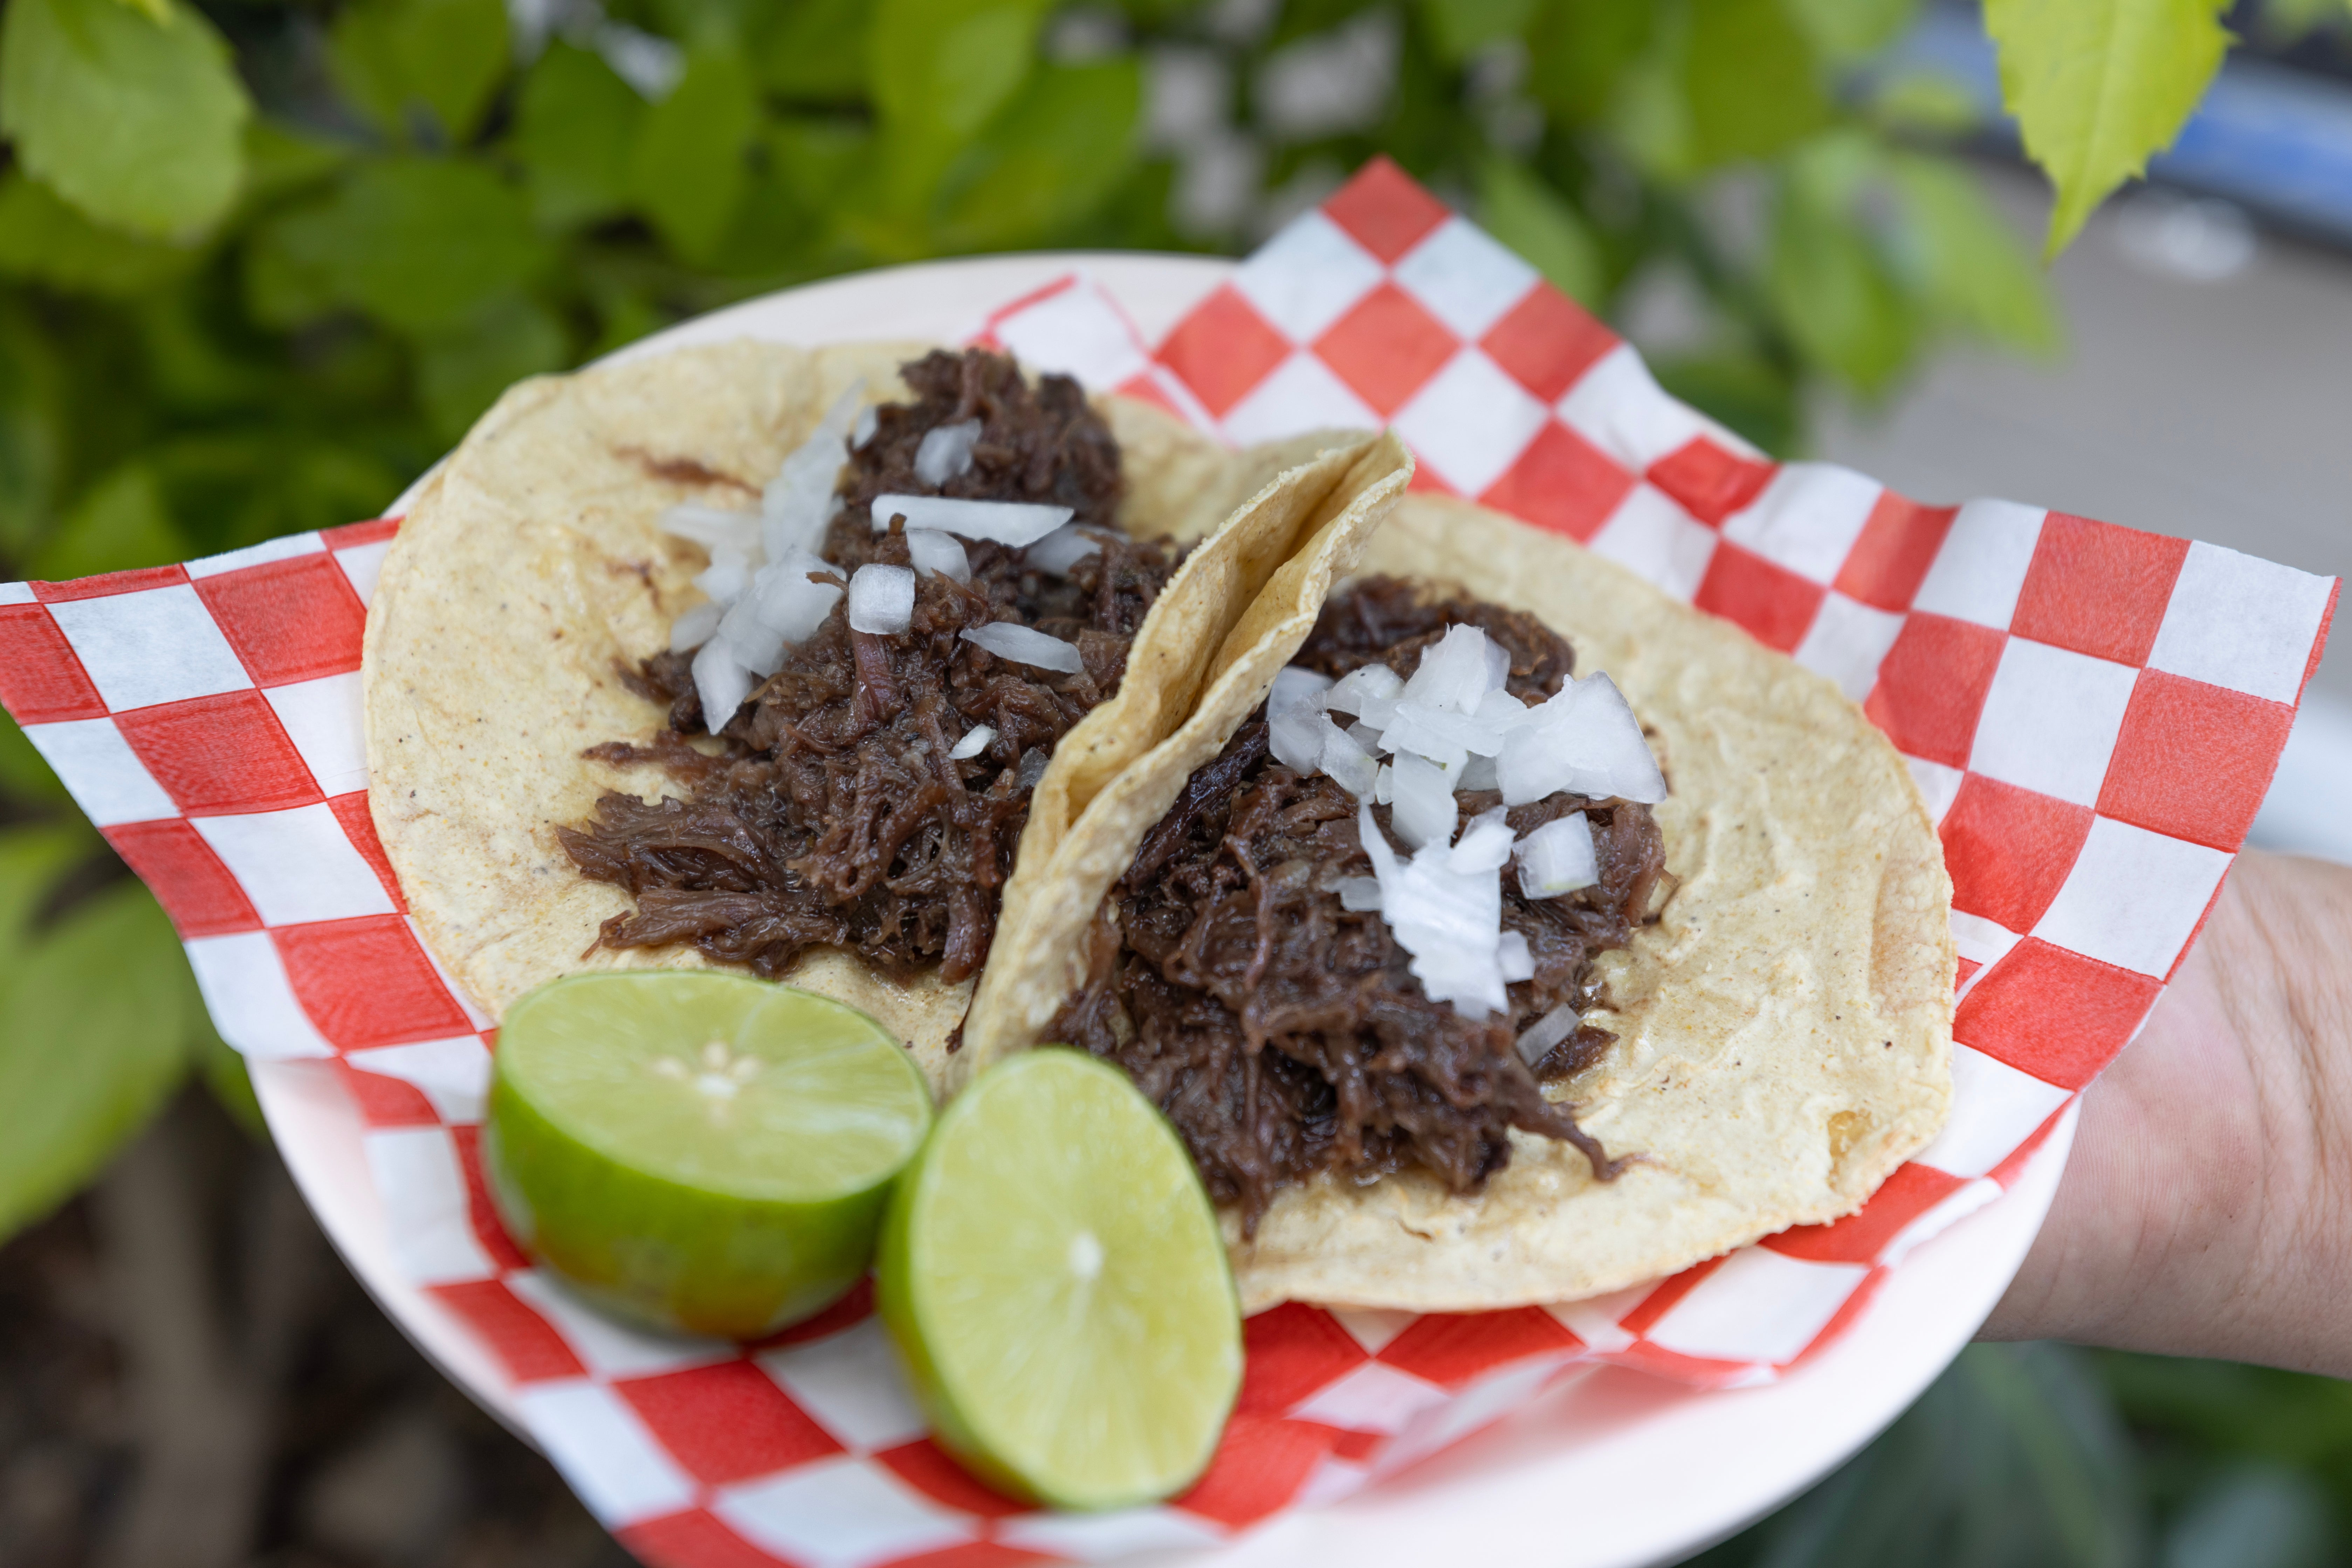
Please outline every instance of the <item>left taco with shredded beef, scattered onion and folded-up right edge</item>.
M369 809L492 1016L724 964L943 1081L1000 912L1171 733L1268 581L1411 461L1268 473L985 353L722 343L515 386L369 607ZM1256 484L1251 491L1242 487Z

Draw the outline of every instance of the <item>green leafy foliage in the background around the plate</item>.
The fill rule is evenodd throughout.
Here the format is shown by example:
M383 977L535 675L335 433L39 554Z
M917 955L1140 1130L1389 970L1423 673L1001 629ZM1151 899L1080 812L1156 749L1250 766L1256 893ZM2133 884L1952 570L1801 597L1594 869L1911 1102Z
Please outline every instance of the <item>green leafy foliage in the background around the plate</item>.
M517 376L809 277L1242 252L1374 153L1597 313L1677 273L1665 386L1797 451L1818 386L2058 346L1966 94L1877 63L1915 9L7 0L0 581L369 517ZM2178 132L2218 9L1985 2L2051 249ZM0 1239L188 1072L252 1114L153 900L0 722ZM2347 1500L2338 1385L1983 1347L1710 1561L2303 1563Z

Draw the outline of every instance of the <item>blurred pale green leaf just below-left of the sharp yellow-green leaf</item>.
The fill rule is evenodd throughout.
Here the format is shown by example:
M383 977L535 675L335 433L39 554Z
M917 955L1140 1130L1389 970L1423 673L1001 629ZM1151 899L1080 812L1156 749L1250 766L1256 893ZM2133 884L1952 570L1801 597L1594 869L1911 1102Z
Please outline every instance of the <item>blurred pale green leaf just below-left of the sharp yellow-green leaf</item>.
M2027 353L2058 350L2058 306L2042 268L1976 174L1959 162L1903 155L1889 174L1903 197L1907 252L1929 310Z

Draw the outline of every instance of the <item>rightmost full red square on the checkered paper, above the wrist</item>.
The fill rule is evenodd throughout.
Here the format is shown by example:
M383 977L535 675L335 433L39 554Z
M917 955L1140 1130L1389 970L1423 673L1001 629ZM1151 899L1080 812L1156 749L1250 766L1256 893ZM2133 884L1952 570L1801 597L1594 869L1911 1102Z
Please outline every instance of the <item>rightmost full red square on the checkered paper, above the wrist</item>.
M2185 675L2140 670L2114 736L2100 816L2237 851L2263 809L2296 710Z

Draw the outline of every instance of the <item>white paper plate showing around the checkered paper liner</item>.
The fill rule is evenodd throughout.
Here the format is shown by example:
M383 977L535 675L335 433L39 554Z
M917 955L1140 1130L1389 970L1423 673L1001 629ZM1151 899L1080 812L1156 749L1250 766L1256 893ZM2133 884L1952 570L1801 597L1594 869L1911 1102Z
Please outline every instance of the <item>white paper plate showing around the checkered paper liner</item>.
M988 310L1073 268L1157 341L1232 263L1042 254L889 268L731 306L616 357L736 336L960 341ZM252 1074L294 1182L353 1274L419 1349L520 1432L496 1363L393 1262L343 1086L320 1063L252 1063ZM1470 1556L1632 1568L1686 1556L1818 1481L1936 1380L2025 1260L2072 1143L2070 1110L2002 1199L1917 1248L1844 1338L1776 1385L1698 1392L1599 1368L1345 1502L1272 1519L1221 1552L1152 1561L1240 1568L1343 1554L1364 1568Z

